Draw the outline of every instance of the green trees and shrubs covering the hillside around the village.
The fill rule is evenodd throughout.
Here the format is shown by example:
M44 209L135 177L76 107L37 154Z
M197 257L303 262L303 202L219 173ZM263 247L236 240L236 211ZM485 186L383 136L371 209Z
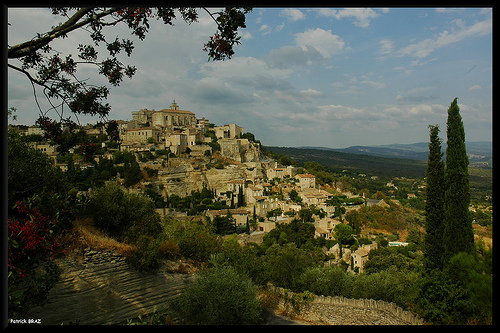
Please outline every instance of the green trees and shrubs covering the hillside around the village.
M391 160L380 158L374 162L372 156L340 154L337 169L331 169L327 162L315 162L321 157L327 161L329 152L303 151L300 155L303 166L298 169L317 174L317 184L333 193L330 206L338 206L335 215L343 217L345 222L333 229L333 238L318 237L314 222L326 214L319 207L303 204L295 218L289 223L276 222L259 244L243 244L236 233L247 233L248 227L236 228L228 216L211 221L203 215L212 205L229 208L225 205L227 202L217 201L209 188L191 191L185 197L170 195L167 198L151 188L145 193L140 189L131 191L127 186L118 185L121 177L123 183L130 181L133 187L142 179L152 181L156 175L141 158L121 152L114 154L112 161L101 159L90 172L87 172L89 169L62 172L23 137L9 132L9 188L16 190L9 193L9 317L25 316L30 307L47 301L49 290L59 279L52 258L91 247L121 253L131 269L139 272L154 274L165 262L178 260L182 260L184 266L179 272L199 272L198 282L173 304L172 310L177 312L174 317L192 318L180 323L264 323L266 314L273 309L272 299L262 293L268 283L298 293L394 302L426 322L436 324L491 323L492 250L486 248L484 241L476 242L476 256L455 258L450 274L436 279L426 279L422 274L421 173L415 179L406 178L409 176L404 168L398 169L401 165L395 164L390 169L394 173L388 175L400 174L400 179L368 177L377 175L370 170L387 172L391 164L387 161ZM163 156L155 155L151 154L152 160ZM292 162L285 155L278 159ZM364 169L357 169L353 161ZM408 162L403 166L409 171L413 162ZM25 166L38 173L22 172ZM223 163L220 167L226 168ZM342 173L346 168L352 174L346 172L339 177L328 171ZM425 173L425 163L420 168ZM362 170L367 175L357 174ZM392 181L391 186L387 186L388 180ZM295 182L290 177L285 181L284 185ZM357 210L346 212L342 203L347 206L353 199L346 202L347 197L332 188L332 181L356 194L362 192L367 198L386 199L386 204L359 205ZM175 180L177 182L180 181ZM25 188L19 184L36 186ZM89 187L91 191L87 191ZM415 197L408 199L410 192L415 192L412 193ZM280 195L284 194L277 192L276 197ZM390 196L394 196L394 200ZM156 209L166 207L174 213L186 214L161 218ZM482 218L491 230L491 212L488 214ZM264 217L259 217L261 219L265 221ZM251 222L249 219L247 224ZM272 223L269 219L267 222ZM388 246L389 241L396 240L409 244ZM353 257L347 261L339 258L338 263L330 264L335 254L329 254L328 250L334 246L354 252L362 245L373 243L378 249L370 252L366 272L351 273L356 272ZM46 265L45 270L38 268L40 263ZM433 288L427 290L435 293L422 294L423 284L432 284ZM206 304L212 304L217 311L207 308ZM191 316L193 313L199 316Z

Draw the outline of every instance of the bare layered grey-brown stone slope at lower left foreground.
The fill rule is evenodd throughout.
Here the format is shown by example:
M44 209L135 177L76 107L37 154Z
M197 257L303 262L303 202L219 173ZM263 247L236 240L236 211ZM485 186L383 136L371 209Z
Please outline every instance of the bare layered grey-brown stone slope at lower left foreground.
M110 251L87 250L83 260L56 259L60 281L50 290L49 302L31 309L29 318L42 324L80 325L126 324L153 311L168 308L194 276L169 272L141 273L132 269L125 257Z

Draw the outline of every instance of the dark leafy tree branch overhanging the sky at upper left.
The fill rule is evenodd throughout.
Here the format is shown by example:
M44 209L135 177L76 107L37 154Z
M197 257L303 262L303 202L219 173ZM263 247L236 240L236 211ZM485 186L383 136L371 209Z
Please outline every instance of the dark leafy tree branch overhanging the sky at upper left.
M204 49L208 52L209 60L230 59L234 54L233 46L240 44L237 30L245 27L245 14L250 8L228 7L223 11L211 13L208 9L204 11L217 24L214 37L205 44ZM63 110L58 108L67 105L75 115L98 115L106 119L111 106L105 103L109 94L106 86L92 86L87 82L78 80L75 73L80 63L94 64L98 67L98 74L106 77L108 82L114 86L120 85L124 77L132 78L136 73L135 66L124 65L117 59L117 54L125 51L130 56L134 45L129 39L113 41L106 40L102 30L106 26L115 26L118 23L126 24L132 35L143 40L149 30L149 20L156 19L164 24L172 25L176 13L180 13L182 19L191 24L197 22L198 12L196 8L167 8L167 7L127 7L127 8L53 8L54 15L61 15L64 22L57 27L51 28L49 32L37 33L36 36L24 43L9 46L7 50L9 60L8 68L23 73L33 86L34 98L40 110L41 117L47 112L55 110L60 118ZM73 13L73 14L71 14ZM92 42L87 45L79 44L76 47L79 60L73 59L71 54L63 56L50 47L50 43L57 38L64 38L70 32L83 29L88 32ZM97 49L103 43L109 53L106 58L100 58ZM106 52L106 51L104 51ZM20 63L14 63L13 61ZM36 96L35 87L43 88L50 108L42 111ZM61 99L55 102L51 99ZM61 119L62 120L62 119Z

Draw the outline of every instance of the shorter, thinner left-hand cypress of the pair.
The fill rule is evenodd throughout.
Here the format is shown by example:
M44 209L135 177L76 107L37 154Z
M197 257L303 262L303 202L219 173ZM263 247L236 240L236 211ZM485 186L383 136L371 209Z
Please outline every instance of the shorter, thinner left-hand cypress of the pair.
M425 202L424 267L427 272L443 269L444 161L439 126L429 125L427 199Z

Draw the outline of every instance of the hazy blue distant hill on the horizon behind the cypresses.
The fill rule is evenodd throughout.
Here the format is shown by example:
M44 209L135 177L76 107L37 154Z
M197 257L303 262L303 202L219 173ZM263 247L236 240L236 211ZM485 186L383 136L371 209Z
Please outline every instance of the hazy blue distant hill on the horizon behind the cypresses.
M493 159L493 145L489 141L466 142L467 154L469 155L470 163L484 163L487 162L492 166ZM427 154L429 153L429 144L427 142L418 142L412 144L392 144L381 146L351 146L348 148L336 149L325 147L300 147L322 149L329 151L339 151L351 154L363 154L379 157L397 157L413 160L427 161ZM442 150L446 153L446 142L443 142Z

